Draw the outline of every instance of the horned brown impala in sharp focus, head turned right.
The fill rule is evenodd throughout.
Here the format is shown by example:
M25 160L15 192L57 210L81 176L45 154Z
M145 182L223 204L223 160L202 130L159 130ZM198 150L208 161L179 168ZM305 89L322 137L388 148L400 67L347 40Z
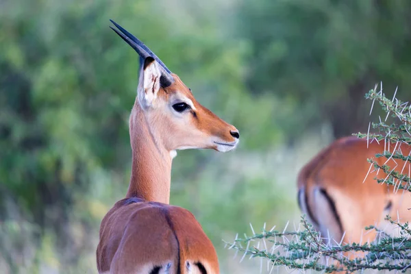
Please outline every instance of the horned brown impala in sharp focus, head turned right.
M140 55L129 118L132 175L125 199L101 222L99 273L219 273L210 239L186 209L169 205L177 149L230 151L236 127L200 105L182 80L120 25L111 27Z

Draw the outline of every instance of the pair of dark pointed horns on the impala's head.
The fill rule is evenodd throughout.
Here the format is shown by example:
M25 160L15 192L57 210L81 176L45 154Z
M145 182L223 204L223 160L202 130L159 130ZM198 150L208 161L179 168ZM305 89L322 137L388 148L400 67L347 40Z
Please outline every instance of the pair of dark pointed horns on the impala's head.
M110 26L110 28L114 30L114 32L116 32L116 34L118 34L121 38L123 38L123 40L125 40L125 42L127 42L127 44L130 45L138 53L138 55L140 55L143 59L151 56L155 61L158 62L158 64L160 64L160 71L162 73L160 84L163 87L167 87L173 84L174 78L171 75L171 71L160 60L160 58L158 58L157 55L153 53L153 51L151 51L143 42L138 40L136 36L127 32L127 30L121 27L121 25L117 24L111 19L110 22L112 22L120 30L120 32L117 29L114 29L114 27L112 26Z

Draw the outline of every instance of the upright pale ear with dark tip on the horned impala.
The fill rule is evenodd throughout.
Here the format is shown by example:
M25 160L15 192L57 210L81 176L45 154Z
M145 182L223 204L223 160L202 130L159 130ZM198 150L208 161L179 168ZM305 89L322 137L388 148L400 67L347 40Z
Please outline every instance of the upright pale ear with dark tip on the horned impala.
M155 99L160 90L160 77L161 72L158 68L158 62L152 57L145 58L142 63L142 92L138 93L138 101L143 110L152 108L155 103Z

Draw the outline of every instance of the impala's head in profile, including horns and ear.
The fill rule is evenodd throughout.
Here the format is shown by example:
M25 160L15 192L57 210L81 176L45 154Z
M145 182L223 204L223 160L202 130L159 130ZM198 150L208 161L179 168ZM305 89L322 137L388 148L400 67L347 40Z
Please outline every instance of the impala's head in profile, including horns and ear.
M236 127L225 123L196 101L177 75L140 40L120 25L112 29L140 55L141 69L138 84L139 109L157 142L175 149L215 149L230 151L238 144ZM130 122L132 127L132 122Z

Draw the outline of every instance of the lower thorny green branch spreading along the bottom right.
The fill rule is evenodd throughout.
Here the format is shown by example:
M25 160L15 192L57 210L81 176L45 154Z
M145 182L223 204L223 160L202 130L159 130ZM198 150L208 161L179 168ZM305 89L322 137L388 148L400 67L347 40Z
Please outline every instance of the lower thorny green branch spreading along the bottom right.
M279 232L273 229L267 231L264 228L261 233L253 231L253 235L236 238L230 244L227 242L227 245L229 244L229 249L236 249L243 253L242 259L245 256L266 259L269 273L275 266L325 273L333 271L351 273L364 271L364 269L405 273L411 268L411 240L408 240L411 229L408 223L398 223L389 216L386 220L400 227L401 236L380 235L377 242L367 242L363 245L358 243L342 245L341 242L327 244L325 242L328 239L321 238L319 232L316 232L306 219L301 218L302 231ZM252 226L251 229L253 230ZM375 229L375 227L368 227L368 229ZM272 245L267 245L267 241ZM343 256L343 252L364 252L366 255L362 258L349 259Z

